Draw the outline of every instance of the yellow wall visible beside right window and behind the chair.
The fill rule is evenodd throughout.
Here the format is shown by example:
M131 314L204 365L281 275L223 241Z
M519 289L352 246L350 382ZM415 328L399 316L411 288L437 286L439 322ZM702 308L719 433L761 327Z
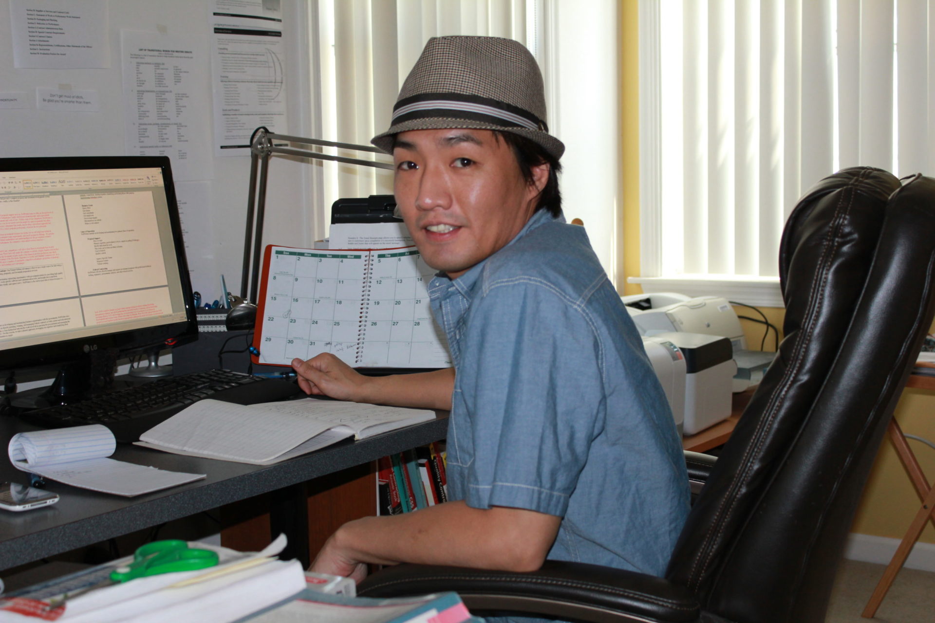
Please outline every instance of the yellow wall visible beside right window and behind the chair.
M625 294L640 293L640 286L627 284L626 277L640 275L640 110L639 110L639 27L637 0L621 0L621 152L623 201L619 219L623 232L623 253L618 274ZM754 316L752 310L735 307L738 314ZM784 310L763 308L763 312L782 331ZM763 325L741 321L752 348L759 347ZM935 330L935 328L933 328ZM782 335L781 335L782 336ZM767 339L766 350L772 350L773 337ZM872 363L869 363L872 364ZM895 417L903 432L914 433L935 442L935 392L906 389L896 408ZM935 477L935 450L910 441L929 480ZM884 440L864 491L853 531L899 539L909 527L920 501L906 476L899 457ZM935 543L935 530L929 522L920 539Z

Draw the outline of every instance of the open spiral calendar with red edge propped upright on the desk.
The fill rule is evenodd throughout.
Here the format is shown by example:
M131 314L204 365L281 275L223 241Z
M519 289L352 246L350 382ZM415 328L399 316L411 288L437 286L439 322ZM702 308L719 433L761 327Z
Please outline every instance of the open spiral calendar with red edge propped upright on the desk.
M253 362L330 352L354 367L451 367L428 303L434 275L415 247L267 246Z

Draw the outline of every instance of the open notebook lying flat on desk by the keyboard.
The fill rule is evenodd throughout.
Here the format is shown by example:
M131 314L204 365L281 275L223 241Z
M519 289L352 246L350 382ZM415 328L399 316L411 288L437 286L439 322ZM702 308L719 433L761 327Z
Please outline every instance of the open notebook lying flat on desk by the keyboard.
M264 404L202 400L140 435L138 446L269 465L343 439L365 439L435 418L434 411L304 398Z

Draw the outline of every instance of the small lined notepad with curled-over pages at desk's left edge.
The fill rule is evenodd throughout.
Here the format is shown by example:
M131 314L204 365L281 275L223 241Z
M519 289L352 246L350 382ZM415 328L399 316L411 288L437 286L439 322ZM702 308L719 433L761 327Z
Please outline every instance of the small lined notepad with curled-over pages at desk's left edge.
M52 431L21 432L9 440L9 460L23 472L72 487L131 497L175 487L205 474L168 472L108 459L117 442L100 424Z

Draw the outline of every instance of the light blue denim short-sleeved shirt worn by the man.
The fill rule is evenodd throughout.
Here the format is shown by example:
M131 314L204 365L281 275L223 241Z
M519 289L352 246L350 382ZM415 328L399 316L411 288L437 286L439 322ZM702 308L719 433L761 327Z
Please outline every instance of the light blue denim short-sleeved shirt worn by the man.
M450 498L562 517L550 559L661 575L688 513L682 445L583 227L540 210L429 294L456 370Z

